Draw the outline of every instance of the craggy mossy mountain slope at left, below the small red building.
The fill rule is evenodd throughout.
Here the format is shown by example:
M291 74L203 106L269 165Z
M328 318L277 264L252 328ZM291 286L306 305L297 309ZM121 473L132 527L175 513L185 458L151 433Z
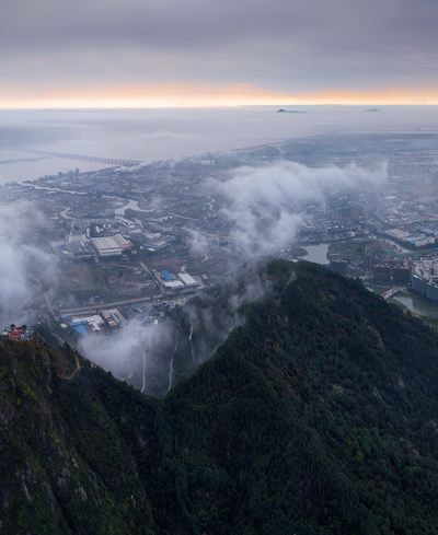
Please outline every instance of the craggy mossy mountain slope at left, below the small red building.
M25 341L0 359L0 532L152 533L129 447L81 382L90 364L74 374L70 350Z

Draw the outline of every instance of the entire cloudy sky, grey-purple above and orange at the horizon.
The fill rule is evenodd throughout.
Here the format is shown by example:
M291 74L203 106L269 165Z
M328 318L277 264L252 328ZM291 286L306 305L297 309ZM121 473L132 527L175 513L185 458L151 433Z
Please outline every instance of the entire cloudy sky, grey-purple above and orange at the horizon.
M0 108L438 104L436 0L3 0Z

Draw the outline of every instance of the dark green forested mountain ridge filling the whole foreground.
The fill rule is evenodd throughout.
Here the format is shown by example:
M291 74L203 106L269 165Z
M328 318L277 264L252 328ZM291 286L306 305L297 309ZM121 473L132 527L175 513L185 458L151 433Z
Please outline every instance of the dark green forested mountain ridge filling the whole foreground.
M436 533L438 336L319 266L258 269L163 399L2 344L2 533Z

